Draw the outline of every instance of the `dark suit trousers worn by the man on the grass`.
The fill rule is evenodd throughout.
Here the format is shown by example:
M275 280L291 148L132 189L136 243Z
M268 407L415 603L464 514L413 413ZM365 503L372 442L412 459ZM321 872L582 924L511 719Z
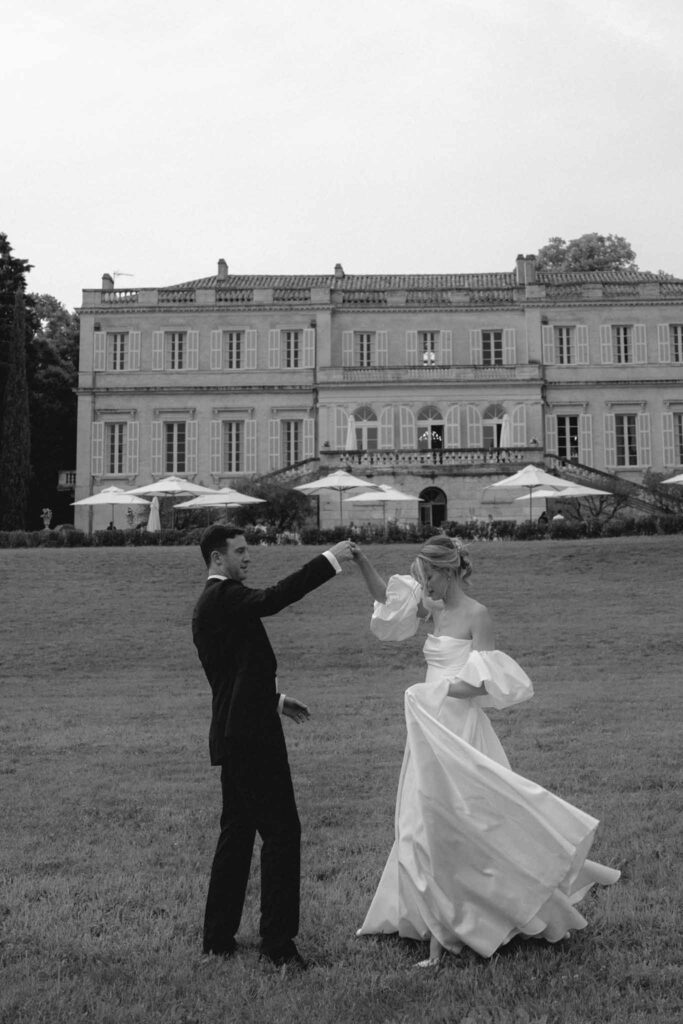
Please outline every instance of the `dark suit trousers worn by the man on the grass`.
M204 918L205 952L225 952L240 928L256 833L261 837L263 945L276 949L299 930L301 825L285 739L260 751L231 744L223 759L220 836Z

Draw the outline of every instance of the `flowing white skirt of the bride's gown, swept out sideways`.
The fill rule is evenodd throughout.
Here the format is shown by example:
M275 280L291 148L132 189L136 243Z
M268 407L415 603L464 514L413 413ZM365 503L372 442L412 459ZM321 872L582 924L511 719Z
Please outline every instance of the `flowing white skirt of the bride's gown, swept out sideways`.
M598 821L513 772L482 712L493 757L425 694L423 684L405 694L396 839L358 934L434 935L490 956L516 934L557 941L584 928L573 904L620 877L586 859Z

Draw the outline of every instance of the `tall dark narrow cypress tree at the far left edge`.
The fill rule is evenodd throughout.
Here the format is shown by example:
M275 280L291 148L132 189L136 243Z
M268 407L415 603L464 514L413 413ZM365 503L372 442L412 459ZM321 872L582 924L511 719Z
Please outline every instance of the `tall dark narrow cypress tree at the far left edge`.
M26 374L27 315L24 289L14 294L2 427L0 428L0 529L26 529L31 475L31 428Z

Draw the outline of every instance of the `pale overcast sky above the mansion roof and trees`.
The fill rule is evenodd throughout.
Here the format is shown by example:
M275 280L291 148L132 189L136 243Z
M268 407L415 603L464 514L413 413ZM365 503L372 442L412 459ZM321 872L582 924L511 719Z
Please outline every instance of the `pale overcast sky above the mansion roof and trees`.
M23 0L0 32L0 231L70 308L104 271L509 270L586 231L683 276L681 0Z

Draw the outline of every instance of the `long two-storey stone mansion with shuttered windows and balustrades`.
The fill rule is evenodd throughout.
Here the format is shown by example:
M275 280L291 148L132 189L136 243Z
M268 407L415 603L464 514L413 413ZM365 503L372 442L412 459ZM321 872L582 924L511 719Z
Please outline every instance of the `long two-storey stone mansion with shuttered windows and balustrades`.
M528 462L635 483L683 468L683 281L530 256L429 275L247 276L220 260L172 287L105 274L80 313L76 499L347 466L421 495L402 518L523 518L489 485ZM339 521L337 495L321 519Z

